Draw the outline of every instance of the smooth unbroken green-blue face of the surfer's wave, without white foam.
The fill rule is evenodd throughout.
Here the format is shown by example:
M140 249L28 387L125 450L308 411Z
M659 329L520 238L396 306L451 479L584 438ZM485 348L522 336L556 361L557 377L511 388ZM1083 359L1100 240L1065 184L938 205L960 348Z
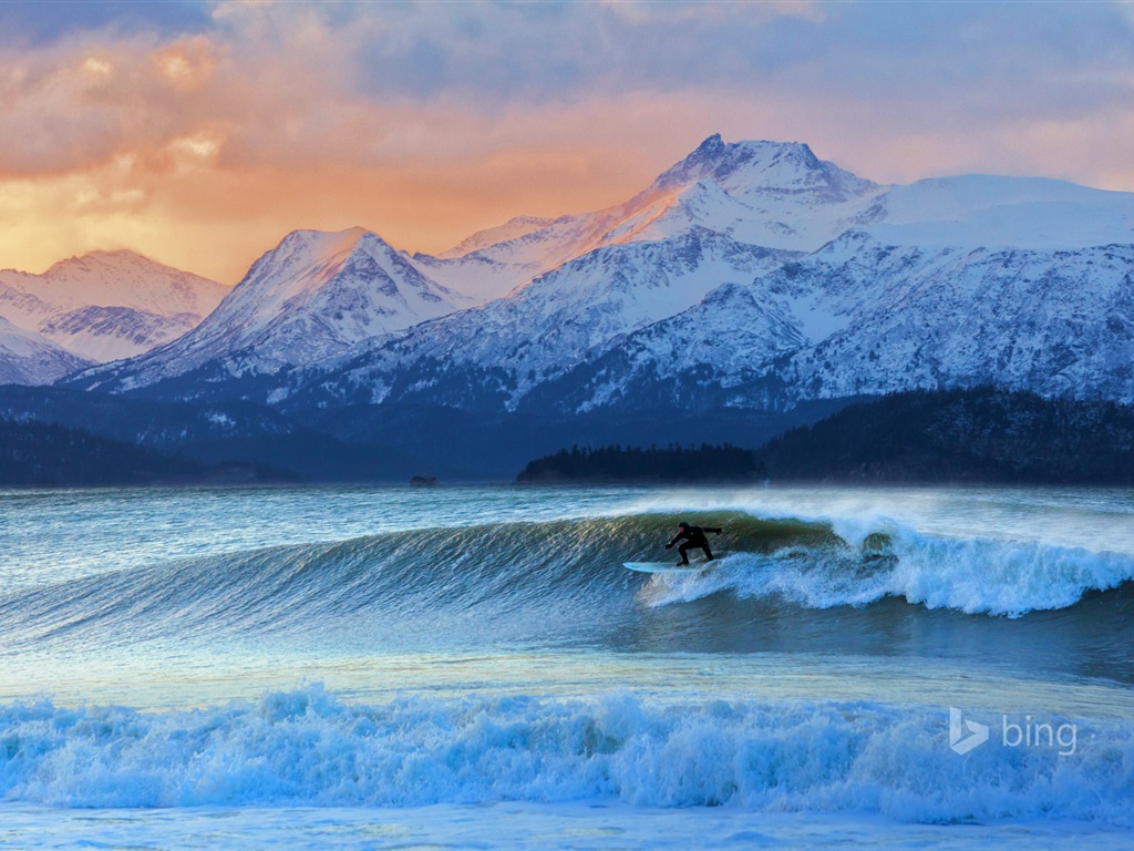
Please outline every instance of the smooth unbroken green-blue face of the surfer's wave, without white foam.
M652 515L502 523L274 547L87 576L11 593L0 618L28 640L76 630L132 635L171 626L210 633L299 631L359 616L539 617L593 613L627 596L624 561L661 549L672 523ZM771 553L832 547L827 528L730 517L730 546ZM674 556L676 561L676 556ZM23 630L22 630L23 627Z

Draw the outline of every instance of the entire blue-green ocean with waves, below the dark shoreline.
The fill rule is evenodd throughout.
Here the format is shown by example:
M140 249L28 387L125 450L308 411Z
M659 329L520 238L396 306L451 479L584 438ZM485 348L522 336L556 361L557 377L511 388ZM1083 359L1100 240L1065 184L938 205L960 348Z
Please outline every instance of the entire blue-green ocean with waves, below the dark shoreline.
M683 520L723 529L704 571L623 568ZM1134 848L1132 521L1100 489L0 491L0 848Z

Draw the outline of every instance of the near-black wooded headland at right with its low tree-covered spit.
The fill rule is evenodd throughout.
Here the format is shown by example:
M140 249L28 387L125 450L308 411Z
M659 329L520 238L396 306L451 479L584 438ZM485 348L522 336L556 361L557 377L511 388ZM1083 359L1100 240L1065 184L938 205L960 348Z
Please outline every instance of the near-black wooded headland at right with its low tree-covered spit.
M1134 407L1032 393L913 390L850 405L753 450L574 447L521 481L771 480L1134 486Z

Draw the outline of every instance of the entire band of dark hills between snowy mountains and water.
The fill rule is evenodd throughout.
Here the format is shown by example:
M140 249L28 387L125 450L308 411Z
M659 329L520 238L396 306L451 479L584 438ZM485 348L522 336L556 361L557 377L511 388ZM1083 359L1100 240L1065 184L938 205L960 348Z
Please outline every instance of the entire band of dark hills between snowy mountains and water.
M829 412L484 421L443 407L358 406L301 427L247 402L0 387L0 483L193 482L225 465L236 477L266 465L312 481L404 482L423 470L483 480L524 469L523 481L564 482L1134 485L1131 406L984 388L894 394L819 419ZM603 448L560 448L565 435Z

